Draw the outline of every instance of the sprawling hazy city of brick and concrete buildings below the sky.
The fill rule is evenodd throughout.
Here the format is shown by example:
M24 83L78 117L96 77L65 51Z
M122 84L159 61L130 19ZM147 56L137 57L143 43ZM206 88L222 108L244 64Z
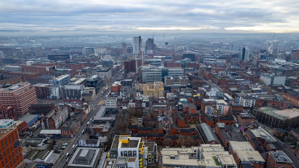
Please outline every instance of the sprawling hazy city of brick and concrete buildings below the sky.
M0 36L0 167L299 167L298 35Z

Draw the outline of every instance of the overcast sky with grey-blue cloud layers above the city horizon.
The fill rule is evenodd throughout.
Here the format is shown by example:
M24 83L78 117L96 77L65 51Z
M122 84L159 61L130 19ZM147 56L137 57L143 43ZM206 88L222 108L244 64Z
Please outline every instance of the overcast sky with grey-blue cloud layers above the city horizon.
M298 33L298 9L297 0L0 0L0 35L1 30Z

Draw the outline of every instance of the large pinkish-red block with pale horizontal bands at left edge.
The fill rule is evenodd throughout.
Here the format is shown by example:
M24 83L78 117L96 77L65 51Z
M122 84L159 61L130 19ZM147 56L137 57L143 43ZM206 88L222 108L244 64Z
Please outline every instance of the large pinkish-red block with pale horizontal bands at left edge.
M17 116L22 117L29 112L30 104L37 104L35 88L25 82L1 88L0 102L4 106L16 106Z

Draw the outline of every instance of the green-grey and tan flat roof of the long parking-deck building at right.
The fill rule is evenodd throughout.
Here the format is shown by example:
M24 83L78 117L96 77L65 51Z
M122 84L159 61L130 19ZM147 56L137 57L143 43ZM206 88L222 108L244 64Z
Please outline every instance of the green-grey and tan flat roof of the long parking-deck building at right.
M287 118L294 118L299 116L299 109L283 109L279 110L270 106L258 108L257 111L275 117L279 120L286 120Z

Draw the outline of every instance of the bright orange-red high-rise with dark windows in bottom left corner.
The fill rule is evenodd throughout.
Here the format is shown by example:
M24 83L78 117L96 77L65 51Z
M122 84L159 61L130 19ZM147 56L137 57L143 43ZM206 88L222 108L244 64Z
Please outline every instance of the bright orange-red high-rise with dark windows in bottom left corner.
M0 129L1 162L0 168L25 167L17 128Z

